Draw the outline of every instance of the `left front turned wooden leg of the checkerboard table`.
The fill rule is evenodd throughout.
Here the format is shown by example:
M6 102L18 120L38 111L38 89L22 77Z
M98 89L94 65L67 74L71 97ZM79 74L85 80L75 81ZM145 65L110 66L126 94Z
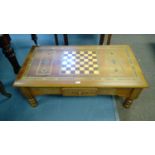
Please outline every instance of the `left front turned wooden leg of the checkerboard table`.
M20 88L22 94L27 98L28 102L32 107L37 106L37 100L35 99L34 95L31 93L29 88Z

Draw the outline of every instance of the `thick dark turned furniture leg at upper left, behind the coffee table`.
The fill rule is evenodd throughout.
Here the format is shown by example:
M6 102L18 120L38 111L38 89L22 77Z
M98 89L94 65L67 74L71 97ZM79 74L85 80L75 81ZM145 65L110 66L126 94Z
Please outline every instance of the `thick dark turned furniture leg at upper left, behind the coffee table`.
M15 56L14 49L11 47L11 38L9 34L0 35L0 48L2 48L3 54L11 63L14 73L17 74L20 70L20 65Z

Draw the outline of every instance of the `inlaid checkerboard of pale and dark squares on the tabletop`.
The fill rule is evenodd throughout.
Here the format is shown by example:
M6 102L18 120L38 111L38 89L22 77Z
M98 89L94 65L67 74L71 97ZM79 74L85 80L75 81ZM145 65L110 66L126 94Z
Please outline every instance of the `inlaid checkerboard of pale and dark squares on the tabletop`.
M61 74L99 74L96 52L64 51L61 63Z

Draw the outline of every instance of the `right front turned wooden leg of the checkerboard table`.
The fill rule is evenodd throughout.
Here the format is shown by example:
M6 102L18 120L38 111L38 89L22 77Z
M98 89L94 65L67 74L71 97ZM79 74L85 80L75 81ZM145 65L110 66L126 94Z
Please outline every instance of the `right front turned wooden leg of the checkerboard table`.
M136 99L139 94L141 93L142 89L141 88L134 88L132 89L129 97L127 97L123 103L124 108L130 108L130 106L133 103L133 100Z

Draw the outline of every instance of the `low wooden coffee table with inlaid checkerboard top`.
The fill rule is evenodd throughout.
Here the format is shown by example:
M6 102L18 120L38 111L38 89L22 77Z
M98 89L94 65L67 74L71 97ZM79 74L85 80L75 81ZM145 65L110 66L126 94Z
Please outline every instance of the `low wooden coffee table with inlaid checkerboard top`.
M127 45L33 46L17 76L35 107L37 95L125 97L128 108L148 84Z

